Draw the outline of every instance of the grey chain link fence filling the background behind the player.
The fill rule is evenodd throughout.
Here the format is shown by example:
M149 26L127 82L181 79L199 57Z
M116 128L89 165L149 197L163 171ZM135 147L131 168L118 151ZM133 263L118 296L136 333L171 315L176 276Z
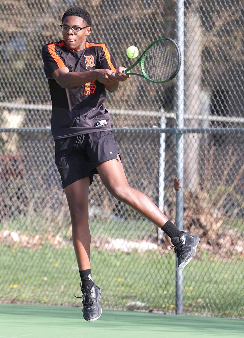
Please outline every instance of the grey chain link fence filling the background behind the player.
M104 42L117 64L184 32L184 127L177 80L138 77L107 95L129 184L169 219L177 216L177 135L184 134L184 229L201 238L184 270L183 313L244 317L243 2L83 1L89 41ZM54 164L51 102L42 46L62 39L71 0L0 4L0 300L78 305L71 222ZM182 19L182 18L181 18ZM183 51L182 51L183 52ZM179 80L178 80L179 81ZM179 84L179 83L178 83ZM182 93L181 93L182 94ZM183 102L181 102L183 103ZM97 176L90 188L91 263L102 306L175 312L175 255L156 226L117 201Z

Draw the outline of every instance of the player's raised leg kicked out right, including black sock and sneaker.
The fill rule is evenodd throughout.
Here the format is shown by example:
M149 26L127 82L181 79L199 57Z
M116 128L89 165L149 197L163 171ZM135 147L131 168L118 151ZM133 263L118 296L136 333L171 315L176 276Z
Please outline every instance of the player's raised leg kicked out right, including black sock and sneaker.
M170 236L177 252L178 266L185 267L195 254L199 237L178 230L148 196L129 186L119 156L116 160L102 163L97 167L97 171L111 194L138 211Z

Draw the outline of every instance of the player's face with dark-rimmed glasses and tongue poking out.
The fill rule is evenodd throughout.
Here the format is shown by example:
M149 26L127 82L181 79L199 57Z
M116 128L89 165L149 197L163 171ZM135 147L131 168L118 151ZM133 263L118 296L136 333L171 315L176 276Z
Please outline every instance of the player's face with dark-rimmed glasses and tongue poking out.
M83 21L82 18L76 16L68 16L63 20L63 25L70 27L85 27L87 24ZM82 29L78 34L75 34L72 29L69 29L67 32L62 32L63 40L68 49L71 50L80 50L84 48L84 42L86 40L86 35L90 35L91 27Z

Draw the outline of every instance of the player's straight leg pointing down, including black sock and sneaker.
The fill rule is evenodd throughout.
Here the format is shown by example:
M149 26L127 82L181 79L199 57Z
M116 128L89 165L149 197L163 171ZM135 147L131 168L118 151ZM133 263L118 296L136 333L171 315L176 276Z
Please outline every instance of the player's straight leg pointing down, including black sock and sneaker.
M70 209L72 240L82 282L80 287L83 294L83 317L87 321L93 321L102 314L99 304L102 292L91 276L91 235L88 223L89 184L89 177L85 177L67 186L64 191Z

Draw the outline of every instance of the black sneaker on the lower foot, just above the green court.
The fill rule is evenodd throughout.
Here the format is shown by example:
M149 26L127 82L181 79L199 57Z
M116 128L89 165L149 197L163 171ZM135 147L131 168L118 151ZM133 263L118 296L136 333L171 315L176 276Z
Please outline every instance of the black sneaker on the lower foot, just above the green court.
M101 289L93 283L92 287L89 289L86 287L86 290L82 289L81 283L80 288L82 292L82 304L83 304L83 317L87 321L97 320L101 317L102 308L99 304L99 300L101 299L102 291Z

